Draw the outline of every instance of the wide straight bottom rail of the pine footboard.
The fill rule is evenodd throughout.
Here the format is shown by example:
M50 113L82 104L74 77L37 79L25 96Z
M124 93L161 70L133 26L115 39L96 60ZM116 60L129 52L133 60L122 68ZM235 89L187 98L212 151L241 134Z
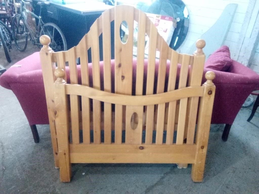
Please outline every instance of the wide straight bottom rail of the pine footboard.
M196 145L70 144L69 148L71 163L194 163Z

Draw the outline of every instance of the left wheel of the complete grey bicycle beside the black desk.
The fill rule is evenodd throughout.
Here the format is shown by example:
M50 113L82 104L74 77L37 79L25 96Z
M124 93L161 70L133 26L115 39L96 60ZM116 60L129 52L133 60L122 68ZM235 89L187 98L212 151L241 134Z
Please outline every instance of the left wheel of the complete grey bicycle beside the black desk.
M28 42L28 32L25 26L25 21L23 16L20 14L16 14L13 17L13 39L15 41L15 45L19 51L24 51L27 47Z

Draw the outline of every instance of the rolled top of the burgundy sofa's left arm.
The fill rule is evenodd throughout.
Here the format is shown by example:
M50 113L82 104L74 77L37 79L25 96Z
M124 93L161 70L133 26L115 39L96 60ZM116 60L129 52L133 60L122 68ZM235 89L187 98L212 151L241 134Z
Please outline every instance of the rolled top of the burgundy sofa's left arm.
M11 89L10 84L19 82L18 77L21 74L30 73L34 70L41 70L39 52L35 52L12 65L0 76L0 85L4 88Z

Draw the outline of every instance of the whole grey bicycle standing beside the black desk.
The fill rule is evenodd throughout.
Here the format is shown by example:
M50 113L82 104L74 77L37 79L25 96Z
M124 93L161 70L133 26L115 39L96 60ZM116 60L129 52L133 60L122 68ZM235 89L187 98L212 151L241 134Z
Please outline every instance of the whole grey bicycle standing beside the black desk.
M49 5L49 2L38 2L37 5L40 5L40 14L37 16L30 10L25 8L25 2L32 3L30 0L21 0L20 1L20 14L16 14L13 18L13 39L16 47L20 51L24 51L27 47L28 35L30 35L30 40L34 45L41 47L39 38L41 35L48 35L51 39L49 46L57 51L67 50L67 43L62 33L61 29L54 23L44 23L41 19L41 8L43 6ZM34 32L27 20L27 14L31 14L38 19L38 25Z

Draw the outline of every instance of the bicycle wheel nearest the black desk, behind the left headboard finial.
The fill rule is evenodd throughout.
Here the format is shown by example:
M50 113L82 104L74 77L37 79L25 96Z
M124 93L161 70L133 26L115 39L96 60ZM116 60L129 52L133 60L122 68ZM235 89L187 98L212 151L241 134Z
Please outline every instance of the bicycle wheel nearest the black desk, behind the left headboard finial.
M61 32L61 29L53 23L46 23L41 27L40 36L48 35L51 39L49 46L57 51L67 50L67 42L64 34Z

